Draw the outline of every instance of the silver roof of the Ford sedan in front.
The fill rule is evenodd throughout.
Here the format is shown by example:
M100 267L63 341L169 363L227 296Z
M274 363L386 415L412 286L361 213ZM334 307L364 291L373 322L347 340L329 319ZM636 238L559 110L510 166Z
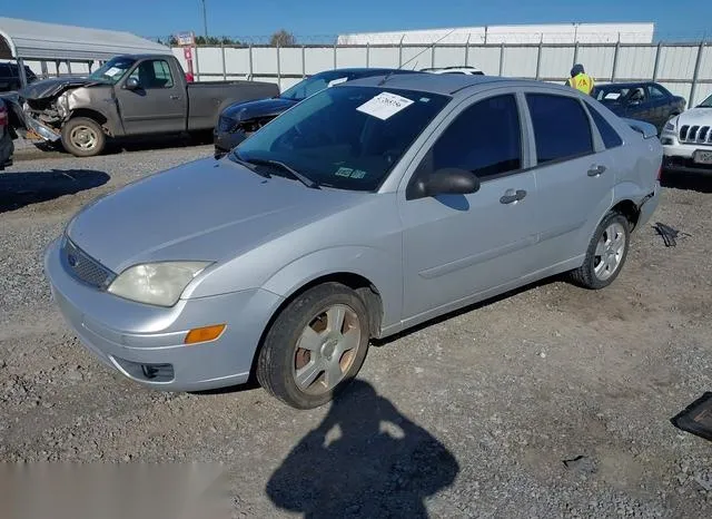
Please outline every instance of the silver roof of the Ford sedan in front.
M416 90L429 94L441 94L446 96L453 96L458 91L464 91L471 88L491 85L502 86L536 86L536 87L551 87L552 90L565 90L571 91L571 87L563 87L561 85L546 84L543 81L527 80L527 79L512 79L502 78L497 76L468 76L468 75L449 75L449 74L404 74L392 76L388 80L380 85L386 76L374 76L369 78L360 78L348 81L349 86L362 87L387 87L402 90Z

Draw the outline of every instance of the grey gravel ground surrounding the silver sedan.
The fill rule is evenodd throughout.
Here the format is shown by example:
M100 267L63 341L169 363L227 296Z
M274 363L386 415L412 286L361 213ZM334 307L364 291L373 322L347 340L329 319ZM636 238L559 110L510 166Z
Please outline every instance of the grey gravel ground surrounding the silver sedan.
M712 177L663 192L654 221L690 236L642 228L611 287L552 281L377 344L298 412L146 390L50 302L41 254L76 210L210 151L20 148L0 174L0 459L220 461L235 517L710 517L710 443L670 418L712 390Z

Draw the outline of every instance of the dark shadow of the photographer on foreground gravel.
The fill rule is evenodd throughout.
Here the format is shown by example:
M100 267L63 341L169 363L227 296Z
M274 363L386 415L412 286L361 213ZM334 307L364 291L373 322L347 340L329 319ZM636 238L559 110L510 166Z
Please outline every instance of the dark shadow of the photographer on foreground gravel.
M306 519L427 518L425 499L458 472L442 442L355 380L271 474L266 492Z

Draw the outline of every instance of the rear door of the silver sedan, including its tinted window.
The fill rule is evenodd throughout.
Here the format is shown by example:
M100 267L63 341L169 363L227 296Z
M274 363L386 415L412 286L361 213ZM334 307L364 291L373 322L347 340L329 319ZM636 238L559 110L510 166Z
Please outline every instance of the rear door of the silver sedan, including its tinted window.
M540 196L535 256L538 268L557 270L585 252L610 207L616 165L577 96L533 90L526 105Z

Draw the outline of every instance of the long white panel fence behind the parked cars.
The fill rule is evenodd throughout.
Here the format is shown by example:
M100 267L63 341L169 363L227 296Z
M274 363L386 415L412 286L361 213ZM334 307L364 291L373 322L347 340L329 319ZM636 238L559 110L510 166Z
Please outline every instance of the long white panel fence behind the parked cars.
M186 67L184 52L174 49ZM597 82L655 80L689 105L712 94L711 43L379 45L198 47L198 81L254 79L288 88L307 75L343 67L422 69L469 65L486 75L563 82L573 63ZM187 68L187 67L186 67Z

